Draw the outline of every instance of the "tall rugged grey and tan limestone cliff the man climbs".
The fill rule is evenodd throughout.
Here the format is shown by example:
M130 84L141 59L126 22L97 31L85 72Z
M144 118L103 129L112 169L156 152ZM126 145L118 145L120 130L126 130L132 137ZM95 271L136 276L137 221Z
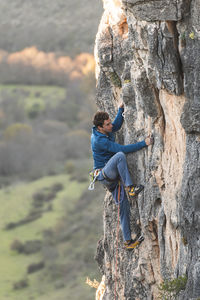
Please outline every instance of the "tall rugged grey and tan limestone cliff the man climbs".
M127 156L145 190L131 203L131 229L144 242L116 249L117 207L107 193L97 261L104 300L159 299L165 279L187 275L179 299L200 298L200 4L198 0L104 0L96 37L97 104L114 117L118 139L152 133L155 143ZM116 268L116 253L117 268Z

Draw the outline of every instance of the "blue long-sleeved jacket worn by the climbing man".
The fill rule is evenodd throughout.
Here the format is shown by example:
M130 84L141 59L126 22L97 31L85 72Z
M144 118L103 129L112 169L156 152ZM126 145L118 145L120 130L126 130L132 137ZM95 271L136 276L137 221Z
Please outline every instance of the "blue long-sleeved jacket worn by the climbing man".
M120 145L115 143L114 132L118 131L122 126L124 120L122 116L123 111L123 108L119 108L115 120L112 123L112 132L109 133L108 136L97 131L95 126L93 127L91 148L94 159L94 169L102 169L108 160L117 152L130 153L138 151L147 146L145 141L129 145Z

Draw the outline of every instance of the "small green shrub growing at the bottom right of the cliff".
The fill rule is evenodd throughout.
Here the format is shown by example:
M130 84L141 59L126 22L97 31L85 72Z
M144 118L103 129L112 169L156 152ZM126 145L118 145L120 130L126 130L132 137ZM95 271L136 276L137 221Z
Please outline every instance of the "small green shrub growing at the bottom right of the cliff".
M160 286L160 299L162 300L176 300L179 293L185 289L187 283L187 276L179 276L172 280L164 280Z

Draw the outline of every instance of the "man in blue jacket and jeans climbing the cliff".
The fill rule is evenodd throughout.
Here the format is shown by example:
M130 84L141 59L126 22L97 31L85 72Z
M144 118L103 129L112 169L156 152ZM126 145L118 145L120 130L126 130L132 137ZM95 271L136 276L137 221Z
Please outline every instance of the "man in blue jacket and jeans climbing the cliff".
M124 105L119 106L118 113L112 123L108 113L97 112L93 119L91 148L94 159L93 182L89 189L93 189L96 180L102 183L112 193L116 204L120 205L120 223L124 237L124 246L134 249L142 240L132 240L130 230L130 205L126 193L130 197L138 195L143 185L134 185L126 161L126 153L138 151L153 144L153 138L129 145L120 145L115 142L114 133L123 123ZM120 189L118 185L120 184ZM120 194L118 196L118 193Z

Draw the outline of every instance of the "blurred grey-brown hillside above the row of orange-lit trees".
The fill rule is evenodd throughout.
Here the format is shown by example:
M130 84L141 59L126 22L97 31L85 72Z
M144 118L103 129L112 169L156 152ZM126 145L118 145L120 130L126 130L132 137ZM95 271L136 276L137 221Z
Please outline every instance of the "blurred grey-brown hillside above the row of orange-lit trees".
M0 0L0 49L93 53L101 14L101 0Z

